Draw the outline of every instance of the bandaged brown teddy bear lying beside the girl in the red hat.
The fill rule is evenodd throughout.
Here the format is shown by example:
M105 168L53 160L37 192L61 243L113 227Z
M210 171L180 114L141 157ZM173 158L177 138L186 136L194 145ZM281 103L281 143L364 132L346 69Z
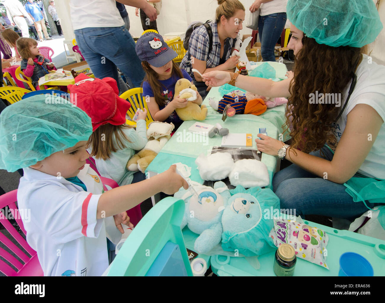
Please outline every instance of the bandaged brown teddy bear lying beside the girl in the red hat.
M141 171L144 173L164 144L170 139L174 124L154 121L148 125L146 146L127 162L129 171Z

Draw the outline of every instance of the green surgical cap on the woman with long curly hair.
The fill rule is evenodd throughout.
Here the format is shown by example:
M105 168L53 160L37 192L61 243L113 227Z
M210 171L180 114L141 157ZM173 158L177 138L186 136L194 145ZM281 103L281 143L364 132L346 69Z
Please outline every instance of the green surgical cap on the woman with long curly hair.
M318 44L363 47L383 26L373 0L288 0L287 17Z

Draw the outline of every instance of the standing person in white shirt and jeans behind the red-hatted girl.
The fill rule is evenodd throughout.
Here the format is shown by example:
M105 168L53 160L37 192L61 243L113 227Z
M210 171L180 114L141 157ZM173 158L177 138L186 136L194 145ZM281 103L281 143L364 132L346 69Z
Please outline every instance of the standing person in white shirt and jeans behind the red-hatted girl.
M136 6L138 3L152 20L156 10L146 0L119 0ZM116 8L113 0L71 0L71 21L75 39L85 60L97 78L112 77L119 89L117 67L131 79L130 87L140 87L144 78L141 61L135 53L135 42Z

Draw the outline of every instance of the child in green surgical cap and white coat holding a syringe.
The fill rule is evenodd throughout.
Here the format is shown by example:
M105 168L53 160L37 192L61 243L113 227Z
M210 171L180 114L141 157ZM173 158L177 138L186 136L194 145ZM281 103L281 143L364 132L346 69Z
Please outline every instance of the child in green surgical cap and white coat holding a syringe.
M54 100L55 98L55 100ZM86 159L91 119L65 99L29 97L0 114L0 168L23 168L18 207L28 244L46 276L100 276L109 265L106 237L121 238L126 214L150 196L175 193L187 183L175 166L150 179L104 192Z

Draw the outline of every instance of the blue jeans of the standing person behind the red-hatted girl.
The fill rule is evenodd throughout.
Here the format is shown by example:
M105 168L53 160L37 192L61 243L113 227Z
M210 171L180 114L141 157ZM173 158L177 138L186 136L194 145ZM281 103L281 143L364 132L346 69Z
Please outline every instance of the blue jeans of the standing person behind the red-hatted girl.
M140 87L144 78L135 42L124 27L87 27L75 30L76 42L97 78L112 77L118 82L116 67L126 75L131 88ZM131 83L132 82L132 83Z

